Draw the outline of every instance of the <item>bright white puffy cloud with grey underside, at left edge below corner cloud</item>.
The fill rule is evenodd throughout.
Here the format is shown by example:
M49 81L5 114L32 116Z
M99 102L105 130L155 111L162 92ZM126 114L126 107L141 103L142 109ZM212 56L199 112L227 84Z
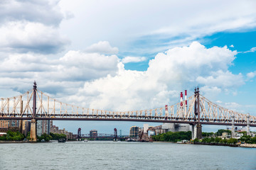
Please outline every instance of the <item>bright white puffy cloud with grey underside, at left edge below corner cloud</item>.
M0 27L0 48L11 52L55 53L69 41L42 23L10 22Z

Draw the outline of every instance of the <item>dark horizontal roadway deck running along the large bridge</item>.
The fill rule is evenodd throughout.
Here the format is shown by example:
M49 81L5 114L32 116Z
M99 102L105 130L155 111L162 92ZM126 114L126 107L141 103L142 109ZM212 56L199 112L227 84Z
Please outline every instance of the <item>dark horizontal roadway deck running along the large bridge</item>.
M31 120L32 117L1 117L0 120ZM142 118L46 118L46 117L36 117L36 120L94 120L94 121L128 121L128 122L151 122L151 123L185 123L190 125L198 124L197 121L183 121L183 120L162 120L160 119L142 119ZM221 122L221 120L215 120L213 122L207 122L201 119L202 125L232 125L230 122ZM247 123L235 123L235 126L246 126ZM250 127L256 127L256 124L250 124Z

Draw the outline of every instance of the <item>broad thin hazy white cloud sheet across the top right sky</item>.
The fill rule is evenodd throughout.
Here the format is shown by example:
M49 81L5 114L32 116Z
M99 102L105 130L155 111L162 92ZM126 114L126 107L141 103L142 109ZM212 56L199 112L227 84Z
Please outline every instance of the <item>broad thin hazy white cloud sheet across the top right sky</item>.
M151 54L188 45L222 31L255 28L255 5L255 1L220 0L207 3L146 0L117 3L110 0L100 4L97 1L60 1L60 7L75 16L63 21L60 28L73 35L74 47L82 49L86 43L103 39L118 45L119 50L134 52L135 56L138 52ZM73 31L74 26L79 27Z

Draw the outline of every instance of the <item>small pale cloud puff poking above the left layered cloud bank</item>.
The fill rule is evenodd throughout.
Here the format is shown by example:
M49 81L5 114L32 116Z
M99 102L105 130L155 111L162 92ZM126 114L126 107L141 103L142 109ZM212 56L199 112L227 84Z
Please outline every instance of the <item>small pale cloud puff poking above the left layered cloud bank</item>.
M100 41L85 49L85 52L97 52L100 54L117 54L118 48L111 47L110 42Z

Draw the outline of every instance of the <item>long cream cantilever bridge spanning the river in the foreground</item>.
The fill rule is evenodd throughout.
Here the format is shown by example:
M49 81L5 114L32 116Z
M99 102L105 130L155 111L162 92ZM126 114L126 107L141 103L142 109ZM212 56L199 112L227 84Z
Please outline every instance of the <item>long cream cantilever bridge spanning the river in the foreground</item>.
M155 123L186 123L192 125L193 138L201 138L202 125L232 125L256 127L256 116L238 113L209 101L195 89L194 95L184 101L163 108L139 111L103 111L63 103L37 89L20 96L1 98L0 120L31 120L31 139L36 141L36 120L97 120L137 121Z

